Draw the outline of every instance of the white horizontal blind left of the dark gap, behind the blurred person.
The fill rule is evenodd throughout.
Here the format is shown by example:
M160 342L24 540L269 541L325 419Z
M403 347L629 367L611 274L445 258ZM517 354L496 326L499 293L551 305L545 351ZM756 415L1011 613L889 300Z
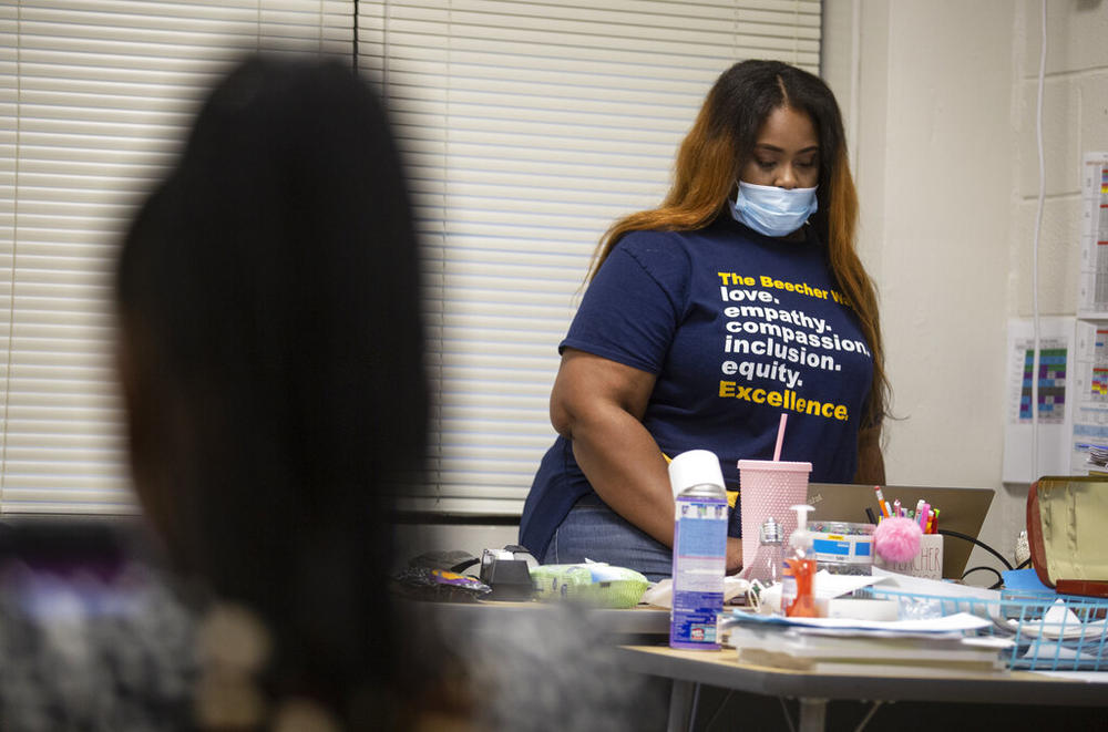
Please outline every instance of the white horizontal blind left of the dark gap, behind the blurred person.
M111 272L140 194L246 51L349 54L352 0L0 6L0 511L134 511Z

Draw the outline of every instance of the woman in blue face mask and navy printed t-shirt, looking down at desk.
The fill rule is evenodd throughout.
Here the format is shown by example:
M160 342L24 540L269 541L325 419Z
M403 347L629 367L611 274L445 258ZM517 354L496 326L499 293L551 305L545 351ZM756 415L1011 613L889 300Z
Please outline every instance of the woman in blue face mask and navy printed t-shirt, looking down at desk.
M520 539L546 564L670 573L666 460L715 452L812 463L814 482L884 482L888 383L876 296L854 248L842 118L817 76L745 61L716 82L660 207L597 251L551 394L558 439ZM736 504L737 505L737 504ZM736 512L737 513L737 512ZM729 571L742 565L738 517Z

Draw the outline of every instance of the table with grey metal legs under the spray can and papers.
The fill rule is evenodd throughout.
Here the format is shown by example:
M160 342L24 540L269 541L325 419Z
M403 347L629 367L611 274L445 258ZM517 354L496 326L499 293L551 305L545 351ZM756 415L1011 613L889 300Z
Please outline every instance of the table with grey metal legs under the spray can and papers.
M740 663L733 648L685 651L665 646L620 646L622 661L637 672L674 680L669 729L686 730L695 684L705 683L800 701L800 730L822 730L827 703L834 699L866 701L942 701L1034 703L1070 707L1108 704L1108 673L1059 678L1033 671L935 677L854 676L786 671Z

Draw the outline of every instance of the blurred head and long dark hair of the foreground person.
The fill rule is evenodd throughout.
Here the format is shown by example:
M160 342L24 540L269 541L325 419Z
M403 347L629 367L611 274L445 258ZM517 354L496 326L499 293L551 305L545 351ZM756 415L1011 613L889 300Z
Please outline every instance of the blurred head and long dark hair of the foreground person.
M203 729L406 726L392 499L428 395L386 111L338 62L245 61L119 261L132 471L203 614Z

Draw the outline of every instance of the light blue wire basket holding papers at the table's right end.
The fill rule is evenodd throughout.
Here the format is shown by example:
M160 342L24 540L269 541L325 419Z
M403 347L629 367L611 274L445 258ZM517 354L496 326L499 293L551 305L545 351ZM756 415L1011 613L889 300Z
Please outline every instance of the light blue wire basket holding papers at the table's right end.
M901 619L970 612L992 621L981 631L1014 642L1003 661L1032 671L1108 671L1108 600L1049 591L1003 590L981 599L920 595L873 586L874 599L896 600Z

